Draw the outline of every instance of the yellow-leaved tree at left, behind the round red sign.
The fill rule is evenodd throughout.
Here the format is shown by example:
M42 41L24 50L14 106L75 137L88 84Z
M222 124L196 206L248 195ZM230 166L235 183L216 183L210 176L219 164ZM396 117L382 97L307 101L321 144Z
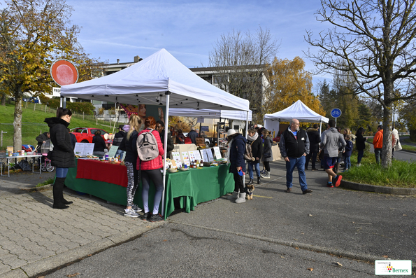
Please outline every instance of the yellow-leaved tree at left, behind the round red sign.
M0 11L0 89L15 97L13 144L20 149L23 93L51 91L50 65L55 60L76 57L83 69L94 61L77 42L79 28L70 25L73 9L64 0L8 0L6 4ZM84 80L90 76L80 72Z

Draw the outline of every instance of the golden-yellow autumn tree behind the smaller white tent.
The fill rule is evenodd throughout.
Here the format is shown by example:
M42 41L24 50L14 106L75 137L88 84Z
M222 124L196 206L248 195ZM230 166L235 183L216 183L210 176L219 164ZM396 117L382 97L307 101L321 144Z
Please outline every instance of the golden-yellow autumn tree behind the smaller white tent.
M269 68L271 88L266 95L266 113L281 111L300 99L316 113L325 115L320 100L312 92L312 76L304 67L301 57L296 56L294 60L275 57Z

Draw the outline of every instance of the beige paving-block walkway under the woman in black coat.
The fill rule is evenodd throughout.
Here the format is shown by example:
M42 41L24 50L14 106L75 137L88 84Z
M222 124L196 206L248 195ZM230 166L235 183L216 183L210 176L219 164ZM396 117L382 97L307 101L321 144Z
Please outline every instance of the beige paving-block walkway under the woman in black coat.
M0 177L0 277L33 277L161 224L125 217L122 206L71 190L65 197L74 204L52 209L52 190L27 190L39 182L39 176Z

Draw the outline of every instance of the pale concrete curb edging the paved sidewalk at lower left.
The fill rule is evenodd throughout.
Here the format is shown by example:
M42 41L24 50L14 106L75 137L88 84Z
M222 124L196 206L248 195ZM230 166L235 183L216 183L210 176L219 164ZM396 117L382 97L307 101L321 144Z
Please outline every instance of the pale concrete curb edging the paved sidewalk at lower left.
M85 244L83 246L77 247L75 249L66 251L64 253L59 253L55 256L50 256L41 261L36 261L34 263L29 263L22 267L16 268L9 272L1 274L1 277L4 278L28 278L28 277L38 277L42 274L48 274L58 270L60 267L69 265L71 263L76 263L83 258L87 258L95 253L99 253L106 249L109 249L113 246L123 244L124 242L129 242L131 240L140 237L145 232L158 228L160 225L164 224L164 221L147 223L148 225L140 227L135 230L129 230L129 232L120 232L118 235L111 235L109 237L99 239L95 242Z

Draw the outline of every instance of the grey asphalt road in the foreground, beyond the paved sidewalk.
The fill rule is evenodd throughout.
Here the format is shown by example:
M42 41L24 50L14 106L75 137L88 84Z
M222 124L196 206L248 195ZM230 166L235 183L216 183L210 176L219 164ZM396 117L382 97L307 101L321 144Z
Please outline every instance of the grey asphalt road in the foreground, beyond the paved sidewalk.
M285 193L284 165L253 200L200 204L45 277L372 277L375 258L416 261L415 196L327 188L323 171L307 172L313 193Z

